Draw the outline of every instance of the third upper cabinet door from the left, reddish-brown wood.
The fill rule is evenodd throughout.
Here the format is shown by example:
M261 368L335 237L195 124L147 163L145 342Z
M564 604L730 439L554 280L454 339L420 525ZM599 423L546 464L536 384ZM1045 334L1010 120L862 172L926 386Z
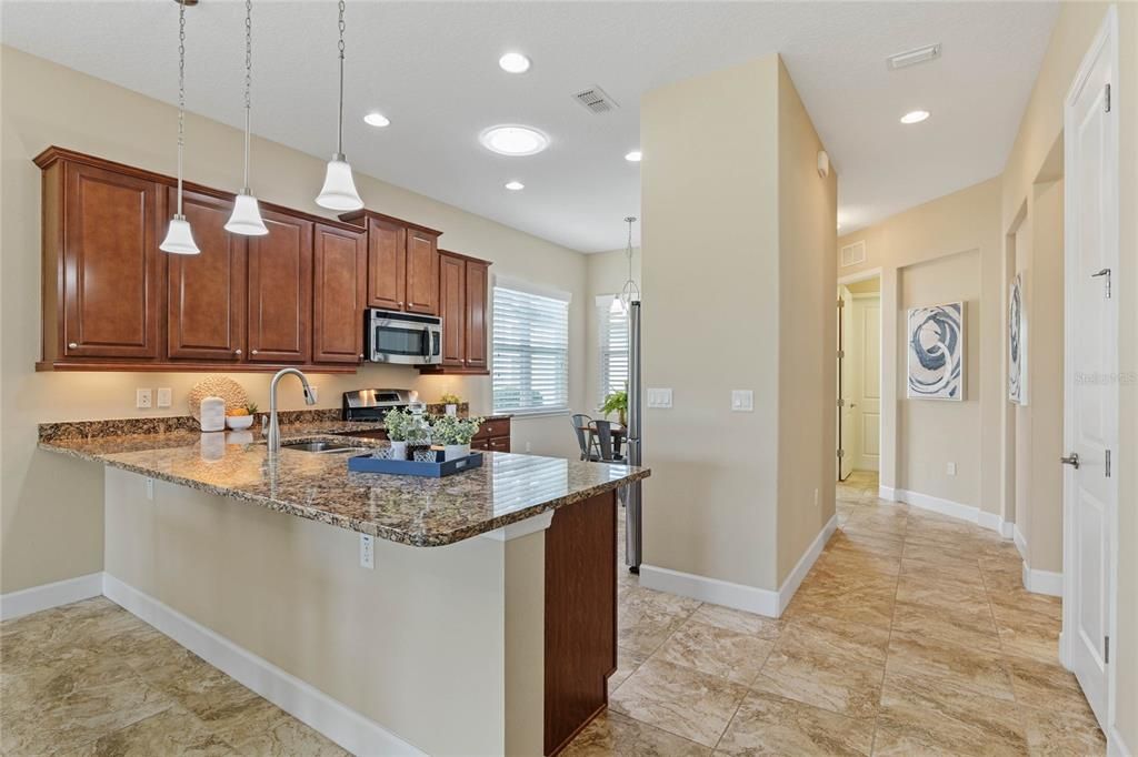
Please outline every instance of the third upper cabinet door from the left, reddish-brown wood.
M312 357L311 221L262 210L269 233L249 236L249 353L254 363Z

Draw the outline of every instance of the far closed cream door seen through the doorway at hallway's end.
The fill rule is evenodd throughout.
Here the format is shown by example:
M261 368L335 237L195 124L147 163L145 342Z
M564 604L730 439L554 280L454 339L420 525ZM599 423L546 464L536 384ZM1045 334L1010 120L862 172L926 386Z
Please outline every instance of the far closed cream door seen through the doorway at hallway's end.
M881 468L881 297L856 296L850 339L855 467Z

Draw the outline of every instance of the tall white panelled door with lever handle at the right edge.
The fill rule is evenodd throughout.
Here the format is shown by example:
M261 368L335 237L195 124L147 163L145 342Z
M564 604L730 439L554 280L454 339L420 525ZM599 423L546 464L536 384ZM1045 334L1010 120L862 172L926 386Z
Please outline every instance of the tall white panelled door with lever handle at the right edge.
M1119 265L1116 33L1096 40L1065 111L1065 662L1103 730L1118 534ZM1112 92L1112 90L1114 90ZM1111 100L1114 99L1114 102ZM1116 466L1115 466L1116 467Z

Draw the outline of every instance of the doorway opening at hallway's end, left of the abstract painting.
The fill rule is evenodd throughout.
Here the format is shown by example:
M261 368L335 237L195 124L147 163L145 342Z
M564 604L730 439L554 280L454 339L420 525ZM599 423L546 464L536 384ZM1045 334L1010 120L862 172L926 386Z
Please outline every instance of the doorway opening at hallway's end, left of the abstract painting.
M881 469L881 274L838 283L838 481Z

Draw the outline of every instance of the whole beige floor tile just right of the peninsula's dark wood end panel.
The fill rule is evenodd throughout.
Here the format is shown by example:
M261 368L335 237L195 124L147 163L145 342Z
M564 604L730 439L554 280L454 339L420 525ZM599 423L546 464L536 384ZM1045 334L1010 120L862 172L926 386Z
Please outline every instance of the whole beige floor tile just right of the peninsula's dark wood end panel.
M744 687L726 679L650 659L617 688L609 706L642 723L714 747L745 693Z

